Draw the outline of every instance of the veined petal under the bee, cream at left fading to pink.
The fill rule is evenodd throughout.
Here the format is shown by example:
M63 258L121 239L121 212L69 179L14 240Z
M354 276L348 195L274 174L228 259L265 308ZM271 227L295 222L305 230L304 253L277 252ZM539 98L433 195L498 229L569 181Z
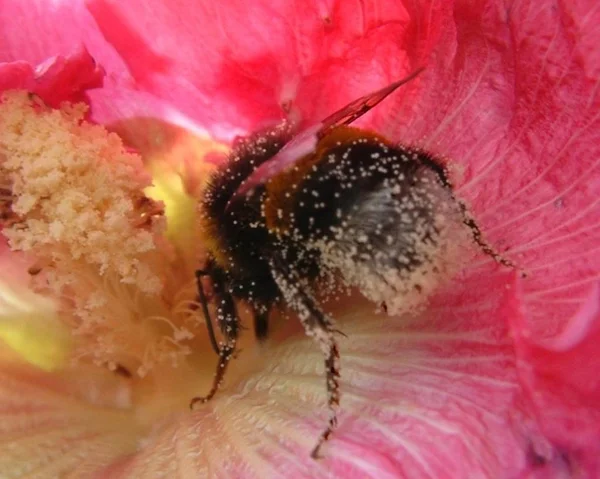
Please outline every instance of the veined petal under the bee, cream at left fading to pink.
M157 426L138 454L103 473L515 477L528 468L528 443L512 426L518 384L498 321L514 290L506 276L460 280L470 296L459 298L449 287L423 317L375 317L371 305L344 315L340 426L318 462L309 452L326 422L322 358L299 332L265 349L264 364L249 379L229 382L193 415ZM460 310L446 305L461 299L469 302Z

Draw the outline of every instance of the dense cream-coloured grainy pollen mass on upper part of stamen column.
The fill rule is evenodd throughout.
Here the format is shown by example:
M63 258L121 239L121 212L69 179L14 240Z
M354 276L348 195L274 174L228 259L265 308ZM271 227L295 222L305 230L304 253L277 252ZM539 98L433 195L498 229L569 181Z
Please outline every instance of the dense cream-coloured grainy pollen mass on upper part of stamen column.
M116 135L83 122L82 105L43 111L23 93L4 103L0 171L20 218L4 231L12 249L50 262L69 256L158 293L161 279L140 255L156 250L163 225L138 226L139 206L150 201L140 194L150 183L140 158L123 151Z

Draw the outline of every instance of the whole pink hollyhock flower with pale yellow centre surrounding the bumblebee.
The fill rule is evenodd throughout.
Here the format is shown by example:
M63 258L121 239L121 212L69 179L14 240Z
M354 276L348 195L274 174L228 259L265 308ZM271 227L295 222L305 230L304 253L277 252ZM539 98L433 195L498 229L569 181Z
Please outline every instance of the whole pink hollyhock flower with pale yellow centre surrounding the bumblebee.
M584 0L5 1L0 475L597 476L599 15ZM473 250L413 315L336 305L342 406L319 461L322 357L293 319L265 345L244 334L190 412L215 365L193 310L211 164L236 135L318 121L420 65L360 124L444 158L527 276Z

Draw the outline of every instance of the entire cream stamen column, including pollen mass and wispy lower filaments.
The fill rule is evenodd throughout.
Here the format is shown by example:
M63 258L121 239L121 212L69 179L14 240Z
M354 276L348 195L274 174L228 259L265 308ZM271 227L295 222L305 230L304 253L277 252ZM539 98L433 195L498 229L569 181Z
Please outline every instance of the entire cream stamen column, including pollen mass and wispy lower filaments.
M187 353L190 333L173 315L187 278L173 279L162 204L144 194L140 156L85 113L3 96L1 231L31 260L34 290L57 300L76 356L145 374Z

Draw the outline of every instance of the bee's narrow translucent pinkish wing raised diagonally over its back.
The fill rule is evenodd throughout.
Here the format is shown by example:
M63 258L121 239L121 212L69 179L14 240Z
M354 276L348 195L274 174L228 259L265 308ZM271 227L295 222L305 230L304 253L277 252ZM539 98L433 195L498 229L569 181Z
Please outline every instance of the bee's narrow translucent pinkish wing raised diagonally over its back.
M390 93L395 91L399 86L404 85L419 73L424 70L424 67L418 68L407 77L395 81L390 85L362 96L357 100L349 103L345 107L329 115L322 122L312 125L299 134L294 136L273 158L265 161L242 183L232 200L240 195L244 195L256 186L265 183L269 178L272 178L277 173L294 165L294 163L303 156L313 152L317 143L321 138L337 126L348 125L354 120L360 118L367 113L371 108L385 99Z

